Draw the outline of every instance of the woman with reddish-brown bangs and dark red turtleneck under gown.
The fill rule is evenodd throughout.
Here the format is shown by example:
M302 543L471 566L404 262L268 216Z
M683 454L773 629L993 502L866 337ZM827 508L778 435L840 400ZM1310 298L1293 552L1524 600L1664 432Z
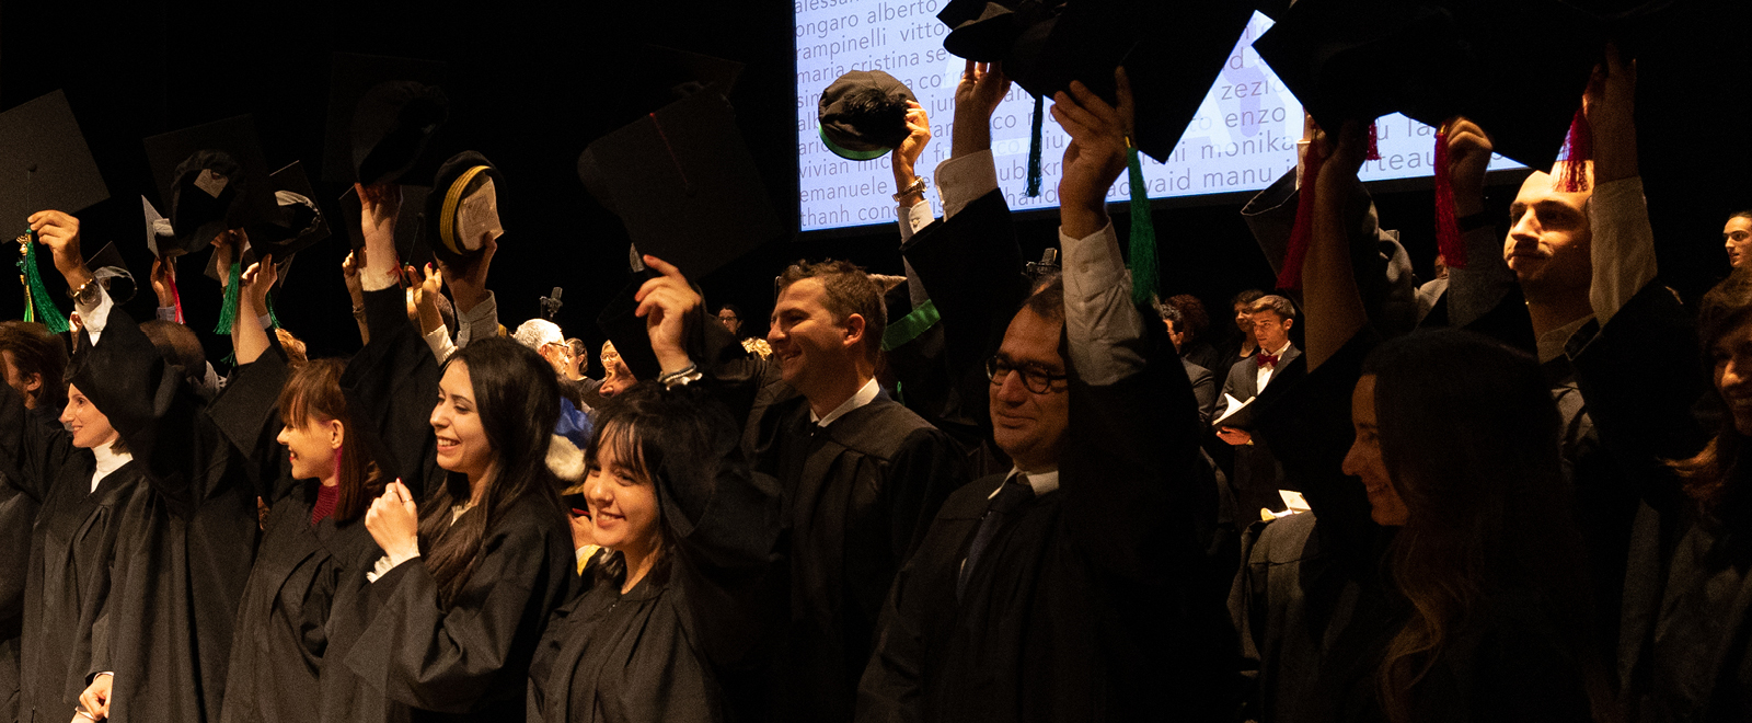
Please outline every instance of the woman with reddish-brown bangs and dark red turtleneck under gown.
M277 354L263 372L286 377ZM268 369L273 367L273 369ZM291 474L272 490L270 512L226 672L224 721L315 721L319 676L338 598L356 597L382 555L361 525L384 481L347 414L345 363L296 367L280 390L277 442Z

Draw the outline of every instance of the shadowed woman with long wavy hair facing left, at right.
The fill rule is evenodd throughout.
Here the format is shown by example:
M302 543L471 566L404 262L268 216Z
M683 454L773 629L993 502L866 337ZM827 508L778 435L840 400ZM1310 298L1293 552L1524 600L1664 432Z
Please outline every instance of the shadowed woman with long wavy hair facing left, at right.
M1386 718L1591 719L1605 669L1538 363L1468 332L1419 332L1368 356L1353 423L1344 470L1396 528L1403 618L1375 676Z

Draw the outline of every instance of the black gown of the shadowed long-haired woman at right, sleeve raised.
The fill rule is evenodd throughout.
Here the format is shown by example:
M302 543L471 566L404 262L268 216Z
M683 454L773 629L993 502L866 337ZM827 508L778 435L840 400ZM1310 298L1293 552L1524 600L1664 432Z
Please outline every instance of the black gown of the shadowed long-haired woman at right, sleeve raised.
M1363 332L1314 374L1305 360L1291 363L1256 402L1260 433L1312 512L1256 523L1244 539L1230 614L1247 662L1247 719L1386 719L1377 676L1410 604L1386 574L1393 530L1370 521L1363 484L1340 469L1351 391L1374 339ZM1538 600L1491 591L1412 691L1412 718L1587 721L1580 655Z

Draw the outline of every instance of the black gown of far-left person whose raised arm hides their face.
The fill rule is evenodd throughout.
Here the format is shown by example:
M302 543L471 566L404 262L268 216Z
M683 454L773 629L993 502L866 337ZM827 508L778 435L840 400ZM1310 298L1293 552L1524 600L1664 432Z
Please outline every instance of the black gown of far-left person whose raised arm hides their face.
M279 388L233 379L201 402L119 307L74 383L121 432L147 495L121 512L105 637L91 674L114 670L110 721L212 721L224 700L237 605L259 533L247 458L214 409Z

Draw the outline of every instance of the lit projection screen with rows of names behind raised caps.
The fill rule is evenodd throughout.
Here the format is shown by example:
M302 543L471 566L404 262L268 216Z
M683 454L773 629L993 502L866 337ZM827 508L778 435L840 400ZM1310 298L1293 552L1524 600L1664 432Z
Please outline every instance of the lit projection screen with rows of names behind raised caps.
M906 82L930 116L930 147L915 172L934 177L950 156L955 84L965 60L943 49L948 28L936 14L946 0L795 0L797 40L797 175L801 230L825 230L894 223L890 195L894 172L888 156L850 161L822 146L816 107L836 77L848 70L883 70ZM1295 167L1302 139L1302 104L1253 51L1253 40L1272 26L1258 12L1223 61L1198 114L1181 135L1167 163L1144 158L1144 181L1151 198L1207 193L1258 191ZM1051 107L1048 98L1046 107ZM992 153L999 188L1016 211L1058 205L1060 161L1069 140L1048 112L1041 133L1042 184L1039 197L1027 197L1028 130L1034 98L1013 86L992 116ZM1435 163L1435 130L1405 116L1375 123L1381 160L1365 161L1363 181L1430 175ZM1496 156L1491 170L1519 168ZM1107 200L1130 198L1125 175L1107 191ZM930 193L936 204L936 193ZM936 207L941 212L941 205Z

